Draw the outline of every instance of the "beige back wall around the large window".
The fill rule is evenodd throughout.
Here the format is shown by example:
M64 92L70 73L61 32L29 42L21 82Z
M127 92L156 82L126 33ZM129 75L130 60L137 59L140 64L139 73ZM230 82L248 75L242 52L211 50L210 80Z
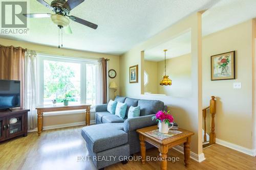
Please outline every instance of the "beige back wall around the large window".
M76 51L76 50L67 50L64 48L57 48L52 46L45 46L45 45L38 45L23 41L14 41L9 39L2 39L0 38L0 44L2 45L13 45L13 46L21 46L23 48L28 48L29 50L35 50L40 53L47 53L47 54L56 54L63 56L63 58L70 56L70 57L82 57L82 58L108 58L108 67L109 69L115 69L117 76L114 79L109 78L109 82L115 81L117 86L119 87L119 56L114 55L107 55L107 54L100 54L100 53L92 53L92 52L85 52L85 51ZM117 89L117 94L119 93L119 88ZM110 89L109 91L109 98L114 98L114 91ZM91 115L91 120L94 120L94 113ZM56 115L56 116L48 116L45 117L44 126L52 126L58 124L68 124L68 123L75 123L75 122L83 122L84 115L83 114L69 114L69 115Z

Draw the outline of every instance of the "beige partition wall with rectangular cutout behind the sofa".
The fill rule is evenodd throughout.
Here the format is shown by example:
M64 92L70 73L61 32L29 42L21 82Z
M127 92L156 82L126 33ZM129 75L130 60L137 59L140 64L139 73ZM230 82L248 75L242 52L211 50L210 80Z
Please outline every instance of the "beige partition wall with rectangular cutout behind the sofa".
M143 95L144 86L144 53L157 44L175 38L181 33L191 30L191 79L192 94L189 98L176 98L173 96ZM201 14L195 13L165 29L147 41L135 46L120 58L120 92L122 95L138 99L151 99L163 101L174 115L175 121L181 128L193 131L191 151L202 153L202 86L201 86ZM142 53L141 53L142 51ZM129 83L129 67L139 65L139 83ZM142 71L143 70L143 71ZM175 82L174 82L175 83Z

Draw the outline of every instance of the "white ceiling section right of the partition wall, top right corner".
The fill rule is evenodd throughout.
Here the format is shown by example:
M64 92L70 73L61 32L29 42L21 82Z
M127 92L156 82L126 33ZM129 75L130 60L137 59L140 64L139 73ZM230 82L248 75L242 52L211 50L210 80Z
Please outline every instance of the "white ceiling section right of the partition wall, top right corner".
M203 13L202 32L208 35L255 17L255 0L221 0Z

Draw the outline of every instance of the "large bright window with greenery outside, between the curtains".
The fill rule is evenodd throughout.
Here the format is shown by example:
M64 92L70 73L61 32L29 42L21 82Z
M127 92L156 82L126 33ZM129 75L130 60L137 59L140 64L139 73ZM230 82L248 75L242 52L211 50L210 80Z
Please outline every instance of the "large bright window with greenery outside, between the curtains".
M96 101L96 60L38 55L38 105L63 105Z

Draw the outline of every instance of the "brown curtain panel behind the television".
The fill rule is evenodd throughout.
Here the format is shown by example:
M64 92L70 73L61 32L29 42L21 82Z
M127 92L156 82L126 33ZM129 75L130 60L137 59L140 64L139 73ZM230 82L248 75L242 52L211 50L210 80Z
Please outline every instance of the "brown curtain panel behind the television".
M0 79L20 80L20 108L24 108L25 50L0 45Z

